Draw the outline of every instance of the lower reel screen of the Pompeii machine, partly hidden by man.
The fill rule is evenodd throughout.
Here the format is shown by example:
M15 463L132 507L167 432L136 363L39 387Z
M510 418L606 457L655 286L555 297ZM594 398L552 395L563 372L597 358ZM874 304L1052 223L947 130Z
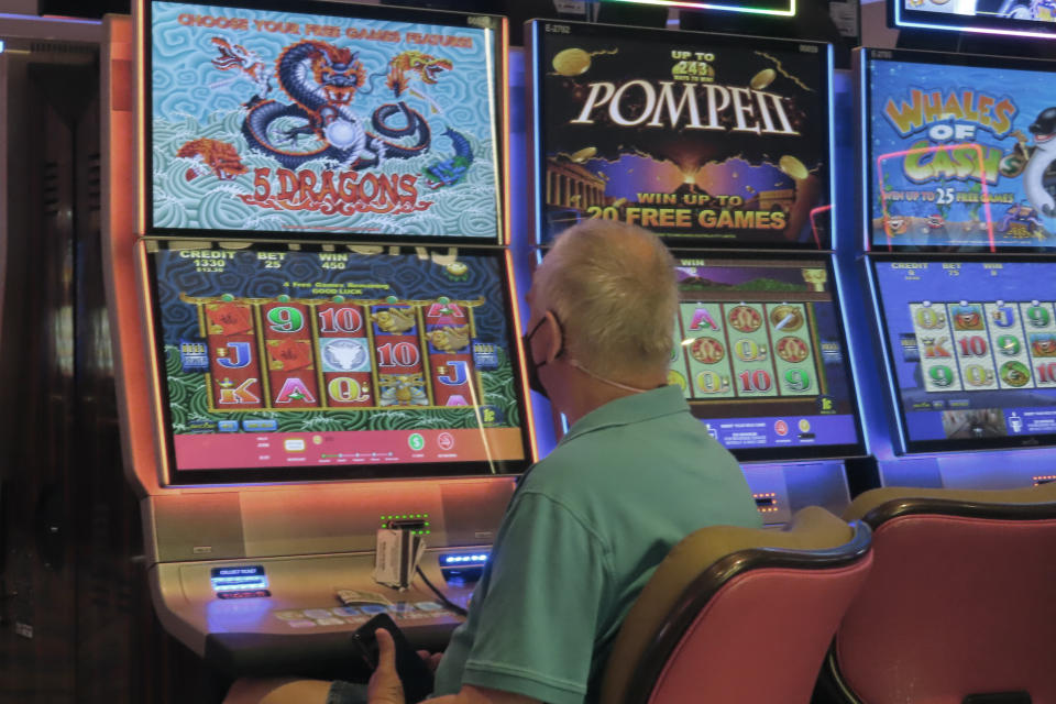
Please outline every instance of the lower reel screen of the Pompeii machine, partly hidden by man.
M678 275L669 376L715 439L743 459L860 452L825 261L683 257Z

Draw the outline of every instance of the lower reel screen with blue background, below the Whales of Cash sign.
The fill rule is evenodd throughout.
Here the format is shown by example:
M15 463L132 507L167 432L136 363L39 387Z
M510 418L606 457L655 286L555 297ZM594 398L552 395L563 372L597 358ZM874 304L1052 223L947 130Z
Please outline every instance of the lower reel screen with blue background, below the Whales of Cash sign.
M903 450L1056 442L1056 263L878 258Z

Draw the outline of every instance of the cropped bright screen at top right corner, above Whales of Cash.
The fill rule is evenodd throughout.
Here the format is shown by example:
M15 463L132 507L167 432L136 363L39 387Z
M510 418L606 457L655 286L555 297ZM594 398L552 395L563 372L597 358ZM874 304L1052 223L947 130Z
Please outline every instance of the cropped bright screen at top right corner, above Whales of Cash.
M893 28L1056 38L1056 4L1049 0L891 0Z

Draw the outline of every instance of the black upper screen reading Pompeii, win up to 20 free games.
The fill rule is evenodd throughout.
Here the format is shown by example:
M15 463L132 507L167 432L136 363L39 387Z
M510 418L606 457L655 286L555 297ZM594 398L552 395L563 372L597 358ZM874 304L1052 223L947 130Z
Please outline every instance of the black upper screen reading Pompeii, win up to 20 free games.
M535 21L529 46L540 244L603 218L829 248L831 45Z

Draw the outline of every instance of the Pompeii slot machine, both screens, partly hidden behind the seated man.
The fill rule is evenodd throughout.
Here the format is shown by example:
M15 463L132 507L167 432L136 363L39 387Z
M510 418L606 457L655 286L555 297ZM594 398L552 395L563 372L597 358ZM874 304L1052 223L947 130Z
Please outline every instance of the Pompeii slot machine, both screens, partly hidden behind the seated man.
M838 513L864 444L831 253L832 47L539 20L526 37L538 256L592 218L661 237L670 382L765 520Z

